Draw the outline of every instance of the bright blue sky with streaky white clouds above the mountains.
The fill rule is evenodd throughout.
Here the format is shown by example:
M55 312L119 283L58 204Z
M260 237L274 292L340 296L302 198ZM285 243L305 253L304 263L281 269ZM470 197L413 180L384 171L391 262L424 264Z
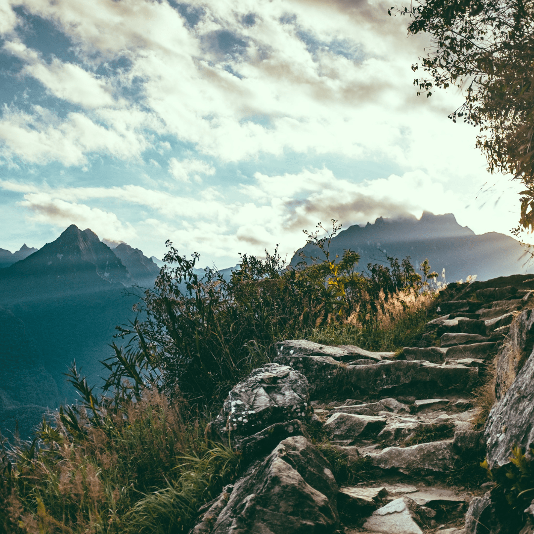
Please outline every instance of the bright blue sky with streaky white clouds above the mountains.
M0 247L70 224L225 268L423 210L509 233L460 90L418 97L391 0L0 0Z

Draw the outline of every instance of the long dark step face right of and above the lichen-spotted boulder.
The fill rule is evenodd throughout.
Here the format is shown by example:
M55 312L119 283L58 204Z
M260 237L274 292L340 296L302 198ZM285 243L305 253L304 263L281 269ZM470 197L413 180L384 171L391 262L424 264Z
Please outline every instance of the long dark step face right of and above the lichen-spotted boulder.
M409 360L343 365L329 357L294 354L278 356L274 361L289 365L306 376L312 400L320 396L347 398L470 392L478 379L476 367L441 366Z

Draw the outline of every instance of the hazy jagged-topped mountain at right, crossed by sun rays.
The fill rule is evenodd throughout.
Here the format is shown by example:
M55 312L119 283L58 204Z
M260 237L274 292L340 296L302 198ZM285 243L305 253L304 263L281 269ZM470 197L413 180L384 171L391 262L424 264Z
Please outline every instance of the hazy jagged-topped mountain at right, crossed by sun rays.
M477 235L460 226L450 213L425 212L420 219L379 217L374 224L350 226L332 239L331 256L341 256L349 248L360 255L360 271L367 263L385 262L386 255L399 260L410 256L416 269L428 258L433 270L441 274L445 269L448 282L465 280L469 274L476 274L477 280L489 280L534 271L528 263L530 255L518 241L497 232ZM315 246L306 245L293 256L293 265L302 261L300 252L319 255Z

